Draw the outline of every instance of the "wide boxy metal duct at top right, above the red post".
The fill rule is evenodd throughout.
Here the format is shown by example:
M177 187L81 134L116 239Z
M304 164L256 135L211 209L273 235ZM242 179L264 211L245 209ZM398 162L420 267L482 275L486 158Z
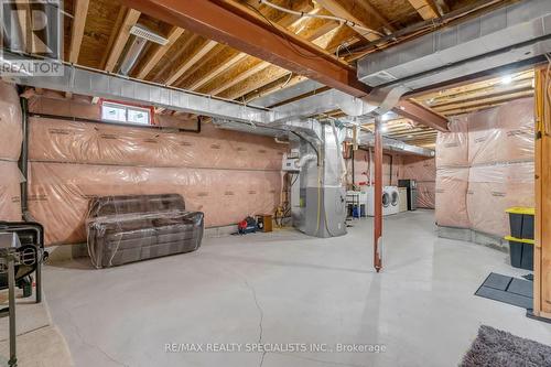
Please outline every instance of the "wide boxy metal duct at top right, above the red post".
M358 61L358 79L414 90L541 55L550 36L551 1L522 1L369 54Z

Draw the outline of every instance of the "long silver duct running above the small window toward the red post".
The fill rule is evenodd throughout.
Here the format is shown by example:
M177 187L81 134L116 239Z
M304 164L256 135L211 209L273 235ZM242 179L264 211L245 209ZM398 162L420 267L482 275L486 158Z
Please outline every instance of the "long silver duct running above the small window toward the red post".
M14 55L7 51L4 51L2 57L35 60ZM62 68L61 76L18 75L10 79L30 87L149 105L249 125L283 123L284 121L325 112L329 107L341 108L354 116L363 115L367 109L372 108L358 98L336 89L329 89L316 95L317 97L306 97L292 104L268 109L91 68L65 63L58 63L57 65ZM323 102L320 102L318 98L322 97Z

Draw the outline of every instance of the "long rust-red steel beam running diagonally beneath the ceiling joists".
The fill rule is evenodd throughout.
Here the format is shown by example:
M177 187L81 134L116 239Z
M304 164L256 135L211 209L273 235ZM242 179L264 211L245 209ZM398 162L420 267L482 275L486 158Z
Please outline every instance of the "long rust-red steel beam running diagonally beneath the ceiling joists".
M371 88L359 82L356 69L333 54L259 17L237 1L122 0L144 13L202 34L280 68L306 76L357 98ZM421 105L401 100L399 114L447 131L447 119Z

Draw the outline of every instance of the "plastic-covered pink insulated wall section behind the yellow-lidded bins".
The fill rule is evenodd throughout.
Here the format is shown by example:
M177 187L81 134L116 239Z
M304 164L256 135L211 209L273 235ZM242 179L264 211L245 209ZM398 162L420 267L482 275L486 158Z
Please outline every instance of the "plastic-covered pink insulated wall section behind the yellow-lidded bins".
M534 205L533 99L455 117L450 130L436 141L437 224L508 235L505 209Z

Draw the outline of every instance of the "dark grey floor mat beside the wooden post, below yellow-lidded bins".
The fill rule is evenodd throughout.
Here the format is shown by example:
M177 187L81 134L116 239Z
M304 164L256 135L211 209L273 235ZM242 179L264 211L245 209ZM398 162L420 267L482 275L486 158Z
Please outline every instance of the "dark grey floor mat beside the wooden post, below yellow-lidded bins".
M533 305L533 283L528 280L490 273L475 293L486 299L523 309Z

